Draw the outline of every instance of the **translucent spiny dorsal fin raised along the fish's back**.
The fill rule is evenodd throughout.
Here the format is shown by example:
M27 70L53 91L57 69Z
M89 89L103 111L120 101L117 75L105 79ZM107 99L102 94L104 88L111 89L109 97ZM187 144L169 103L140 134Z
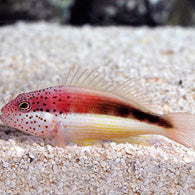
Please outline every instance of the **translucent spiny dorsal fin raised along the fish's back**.
M66 74L64 85L109 92L123 97L131 103L139 104L147 110L157 111L157 106L151 104L149 98L136 85L134 79L126 79L122 83L114 83L105 80L100 73L94 73L80 66L73 66Z

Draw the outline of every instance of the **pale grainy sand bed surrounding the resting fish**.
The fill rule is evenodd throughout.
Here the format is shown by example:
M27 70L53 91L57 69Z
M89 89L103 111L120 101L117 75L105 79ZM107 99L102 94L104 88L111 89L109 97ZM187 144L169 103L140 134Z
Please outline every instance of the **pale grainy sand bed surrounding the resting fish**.
M159 112L195 113L195 29L59 26L0 28L1 107L62 82L74 64L138 79ZM104 143L65 150L0 127L0 194L195 194L195 152L162 136L149 146Z

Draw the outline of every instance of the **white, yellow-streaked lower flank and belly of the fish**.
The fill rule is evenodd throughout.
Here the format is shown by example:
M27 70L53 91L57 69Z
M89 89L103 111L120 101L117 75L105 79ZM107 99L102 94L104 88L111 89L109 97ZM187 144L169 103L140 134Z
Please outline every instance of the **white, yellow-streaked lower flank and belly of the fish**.
M114 140L142 134L165 134L162 127L138 120L98 114L58 116L65 141Z

